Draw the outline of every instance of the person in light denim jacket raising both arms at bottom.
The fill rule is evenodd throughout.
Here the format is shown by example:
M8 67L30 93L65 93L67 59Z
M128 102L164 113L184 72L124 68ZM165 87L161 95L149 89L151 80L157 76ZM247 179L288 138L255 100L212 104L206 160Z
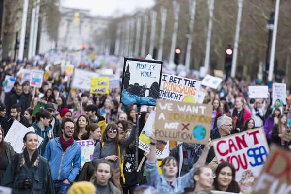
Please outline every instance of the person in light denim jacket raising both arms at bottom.
M182 177L176 178L178 172L178 162L174 157L168 156L162 161L162 175L159 174L156 161L156 138L155 132L150 135L150 150L148 160L145 165L146 179L150 186L155 187L159 194L181 194L184 189L191 183L194 184L194 169L195 166L201 167L205 165L208 151L212 146L211 139L205 145L200 158L193 165L189 173Z

